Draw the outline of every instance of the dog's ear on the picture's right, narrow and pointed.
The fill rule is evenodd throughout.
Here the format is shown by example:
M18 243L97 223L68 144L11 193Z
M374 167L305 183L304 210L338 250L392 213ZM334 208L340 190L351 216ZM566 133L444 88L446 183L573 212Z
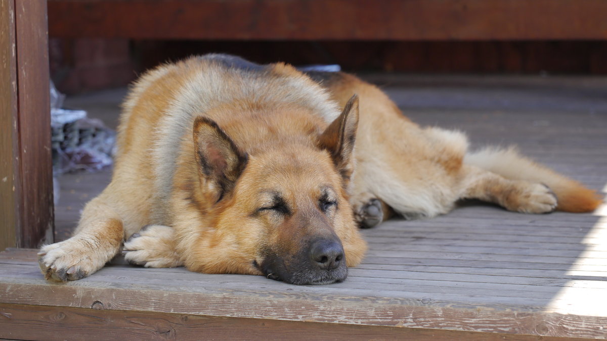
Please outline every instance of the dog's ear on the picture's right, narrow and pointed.
M320 135L320 147L327 149L345 180L354 170L354 140L358 128L358 95L345 104L341 115Z

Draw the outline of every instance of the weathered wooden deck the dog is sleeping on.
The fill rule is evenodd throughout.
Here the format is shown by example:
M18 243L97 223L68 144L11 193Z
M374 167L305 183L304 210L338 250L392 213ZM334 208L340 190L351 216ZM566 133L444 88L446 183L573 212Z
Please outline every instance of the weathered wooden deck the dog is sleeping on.
M390 84L419 123L466 130L473 146L518 144L607 191L605 79L371 79ZM0 338L607 339L605 206L525 215L464 203L364 234L364 263L324 286L120 262L54 284L35 251L8 250L0 254Z

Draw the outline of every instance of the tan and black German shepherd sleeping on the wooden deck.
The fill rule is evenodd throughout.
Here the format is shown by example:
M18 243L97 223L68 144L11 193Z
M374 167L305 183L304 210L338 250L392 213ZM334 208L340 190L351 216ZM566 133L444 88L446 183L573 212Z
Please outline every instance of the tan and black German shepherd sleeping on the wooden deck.
M135 83L111 183L39 264L82 279L122 247L154 268L340 282L365 254L359 226L461 198L535 214L601 201L514 149L468 152L463 133L419 127L353 75L206 55Z

